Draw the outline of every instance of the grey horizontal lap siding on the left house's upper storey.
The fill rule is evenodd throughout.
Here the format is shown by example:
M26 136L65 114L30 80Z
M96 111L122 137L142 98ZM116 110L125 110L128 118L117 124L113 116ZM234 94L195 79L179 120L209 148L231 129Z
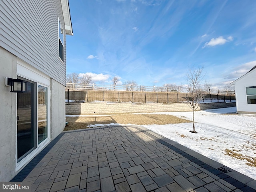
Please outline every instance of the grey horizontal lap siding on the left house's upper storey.
M66 40L64 34L63 63L58 18L64 26L60 0L0 0L0 46L65 86Z

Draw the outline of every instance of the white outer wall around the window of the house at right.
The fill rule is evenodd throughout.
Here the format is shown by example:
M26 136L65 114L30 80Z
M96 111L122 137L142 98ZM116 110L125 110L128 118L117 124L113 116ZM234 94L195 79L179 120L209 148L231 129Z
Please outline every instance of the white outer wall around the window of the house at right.
M238 113L256 114L256 104L247 104L246 87L256 86L256 70L249 72L234 82L236 108Z

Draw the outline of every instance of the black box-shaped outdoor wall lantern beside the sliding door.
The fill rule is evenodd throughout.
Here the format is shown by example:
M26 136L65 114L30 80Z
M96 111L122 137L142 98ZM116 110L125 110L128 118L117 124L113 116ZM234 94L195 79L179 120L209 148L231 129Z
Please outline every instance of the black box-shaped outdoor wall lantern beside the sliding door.
M28 82L21 79L5 77L5 85L11 86L12 93L24 93L28 91Z

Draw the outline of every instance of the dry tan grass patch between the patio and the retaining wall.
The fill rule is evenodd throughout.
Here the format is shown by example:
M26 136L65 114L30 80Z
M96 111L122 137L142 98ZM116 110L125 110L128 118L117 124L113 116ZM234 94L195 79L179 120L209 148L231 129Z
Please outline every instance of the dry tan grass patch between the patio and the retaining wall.
M190 122L185 119L172 115L155 115L155 114L114 114L108 116L88 116L88 117L66 117L68 125L64 129L76 130L86 129L88 125L94 124L136 124L136 125L164 125Z

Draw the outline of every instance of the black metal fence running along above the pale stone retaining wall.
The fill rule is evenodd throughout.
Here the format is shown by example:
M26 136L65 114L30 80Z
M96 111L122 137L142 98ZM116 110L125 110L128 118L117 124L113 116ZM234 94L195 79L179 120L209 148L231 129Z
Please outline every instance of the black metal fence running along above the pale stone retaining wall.
M132 103L178 103L187 102L186 93L162 92L117 92L93 90L69 90L66 92L66 102L132 102ZM225 102L235 100L235 95L207 94L202 102Z

